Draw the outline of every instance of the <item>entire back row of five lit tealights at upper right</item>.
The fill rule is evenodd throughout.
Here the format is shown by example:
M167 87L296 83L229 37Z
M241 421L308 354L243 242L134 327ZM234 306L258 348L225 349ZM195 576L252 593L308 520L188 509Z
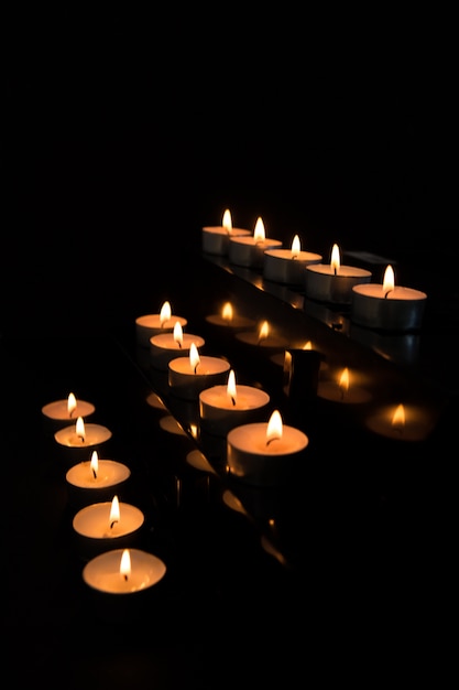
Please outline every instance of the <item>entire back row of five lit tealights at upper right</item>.
M300 289L310 300L350 305L350 317L358 325L384 331L422 326L425 292L395 285L391 265L382 283L371 282L371 271L341 263L337 244L331 248L330 262L325 263L321 255L302 249L298 235L289 249L281 240L267 238L261 217L253 234L233 228L226 209L221 226L203 227L201 247L205 254L228 257L236 266L261 269L266 280Z

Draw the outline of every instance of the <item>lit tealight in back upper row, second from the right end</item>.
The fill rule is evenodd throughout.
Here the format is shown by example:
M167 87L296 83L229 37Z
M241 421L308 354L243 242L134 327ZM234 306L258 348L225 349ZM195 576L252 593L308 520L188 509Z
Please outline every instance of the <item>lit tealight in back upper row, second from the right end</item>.
M310 300L350 304L352 288L371 280L371 271L354 266L341 266L338 245L331 249L330 263L307 266L304 273L305 295Z

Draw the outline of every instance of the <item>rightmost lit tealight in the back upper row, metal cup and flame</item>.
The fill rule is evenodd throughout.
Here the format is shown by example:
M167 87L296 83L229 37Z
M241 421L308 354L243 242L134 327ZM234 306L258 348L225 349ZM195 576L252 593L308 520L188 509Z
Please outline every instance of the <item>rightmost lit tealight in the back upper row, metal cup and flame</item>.
M352 288L351 321L382 331L420 328L427 294L420 290L395 285L392 266L387 266L382 284Z

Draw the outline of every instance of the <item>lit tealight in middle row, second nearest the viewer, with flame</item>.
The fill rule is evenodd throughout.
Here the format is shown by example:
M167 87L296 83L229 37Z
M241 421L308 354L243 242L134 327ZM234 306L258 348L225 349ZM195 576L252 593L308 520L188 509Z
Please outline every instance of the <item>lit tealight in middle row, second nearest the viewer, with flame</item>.
M210 434L226 436L230 429L262 421L270 396L254 386L236 384L233 369L226 385L211 386L199 393L201 429Z

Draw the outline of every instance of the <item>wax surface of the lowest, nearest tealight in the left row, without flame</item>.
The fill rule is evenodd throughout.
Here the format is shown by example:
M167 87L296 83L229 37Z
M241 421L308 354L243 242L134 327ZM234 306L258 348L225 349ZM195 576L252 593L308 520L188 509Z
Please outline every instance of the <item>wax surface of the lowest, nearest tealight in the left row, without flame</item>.
M123 549L113 549L90 560L83 570L86 584L107 594L133 594L157 584L166 573L164 562L152 553L129 549L131 572L120 573Z

